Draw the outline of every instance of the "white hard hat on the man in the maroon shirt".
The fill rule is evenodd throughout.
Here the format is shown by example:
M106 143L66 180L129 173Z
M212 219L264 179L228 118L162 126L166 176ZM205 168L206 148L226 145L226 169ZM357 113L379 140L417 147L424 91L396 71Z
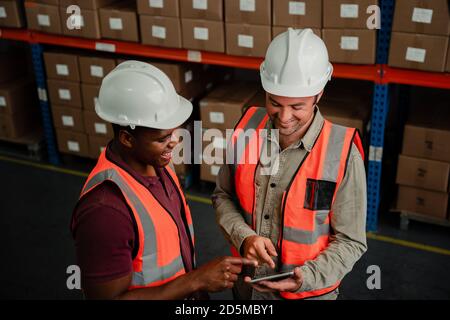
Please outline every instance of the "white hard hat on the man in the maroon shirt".
M95 111L121 126L174 129L189 119L192 103L179 96L167 75L140 61L125 61L102 82Z

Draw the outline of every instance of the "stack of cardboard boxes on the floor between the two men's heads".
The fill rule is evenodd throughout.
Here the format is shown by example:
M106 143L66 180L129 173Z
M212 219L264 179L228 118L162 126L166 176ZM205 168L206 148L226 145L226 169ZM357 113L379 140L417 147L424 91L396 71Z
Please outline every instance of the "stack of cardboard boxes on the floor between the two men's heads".
M200 101L200 118L204 130L202 155L199 156L202 181L216 181L221 164L226 162L226 130L234 129L244 108L256 93L255 84L224 84Z

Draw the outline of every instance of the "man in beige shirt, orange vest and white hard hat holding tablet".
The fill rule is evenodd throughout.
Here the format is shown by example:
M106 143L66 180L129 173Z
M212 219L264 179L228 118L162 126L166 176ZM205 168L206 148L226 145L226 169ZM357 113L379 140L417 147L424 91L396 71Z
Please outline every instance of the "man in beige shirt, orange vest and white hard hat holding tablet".
M237 124L229 144L235 161L222 166L213 194L233 254L259 261L240 276L235 297L336 299L341 280L367 250L359 134L319 111L333 66L311 29L289 28L277 36L260 73L266 106L249 108ZM254 133L239 146L249 129ZM255 148L258 143L262 148ZM254 150L261 152L251 162ZM262 161L267 154L275 159L268 168ZM290 271L282 280L250 283Z

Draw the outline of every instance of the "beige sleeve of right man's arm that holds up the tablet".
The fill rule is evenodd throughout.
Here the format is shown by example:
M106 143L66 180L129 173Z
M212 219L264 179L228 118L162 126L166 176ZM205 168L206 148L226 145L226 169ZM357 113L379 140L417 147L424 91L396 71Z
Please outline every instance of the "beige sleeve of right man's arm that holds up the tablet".
M364 161L353 145L345 177L332 206L329 246L315 260L301 266L303 284L298 292L333 286L367 251L366 188Z

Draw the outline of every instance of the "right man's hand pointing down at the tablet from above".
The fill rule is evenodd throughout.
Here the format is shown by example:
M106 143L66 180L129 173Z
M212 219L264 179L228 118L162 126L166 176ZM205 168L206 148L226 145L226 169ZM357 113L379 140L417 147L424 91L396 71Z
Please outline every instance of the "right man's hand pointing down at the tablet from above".
M278 256L277 251L268 238L260 236L250 236L245 238L243 244L244 257L251 260L256 260L259 263L267 263L272 269L275 269L275 262L272 257Z

